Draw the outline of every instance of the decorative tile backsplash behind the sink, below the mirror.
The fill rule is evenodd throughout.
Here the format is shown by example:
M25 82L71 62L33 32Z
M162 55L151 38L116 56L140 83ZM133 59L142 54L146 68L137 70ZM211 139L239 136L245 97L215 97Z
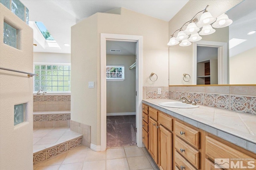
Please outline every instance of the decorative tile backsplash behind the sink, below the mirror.
M170 86L169 91L162 91L161 95L157 95L157 88L160 87L144 88L146 99L166 99L164 96L169 96L169 99L180 100L183 96L191 101L198 99L199 105L256 116L256 86Z

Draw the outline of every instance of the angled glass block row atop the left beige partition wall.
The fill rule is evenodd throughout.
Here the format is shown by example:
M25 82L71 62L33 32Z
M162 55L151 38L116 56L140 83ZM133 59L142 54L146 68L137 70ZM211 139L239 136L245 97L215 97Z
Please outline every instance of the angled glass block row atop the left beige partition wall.
M22 21L26 22L26 24L29 24L28 8L26 8L26 6L24 6L19 0L0 0L0 3L11 10L12 13L18 16Z

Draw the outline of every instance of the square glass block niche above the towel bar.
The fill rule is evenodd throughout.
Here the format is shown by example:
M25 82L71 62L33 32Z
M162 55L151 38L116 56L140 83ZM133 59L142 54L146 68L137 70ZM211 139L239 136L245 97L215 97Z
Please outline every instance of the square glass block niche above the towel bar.
M4 43L17 48L17 29L4 22Z

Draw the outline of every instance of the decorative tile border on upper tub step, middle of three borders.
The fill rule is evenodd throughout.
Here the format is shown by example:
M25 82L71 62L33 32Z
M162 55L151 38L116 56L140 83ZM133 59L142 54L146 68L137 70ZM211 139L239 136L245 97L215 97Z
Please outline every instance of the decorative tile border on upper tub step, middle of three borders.
M69 121L70 113L66 114L49 114L49 115L33 115L34 122L40 121Z

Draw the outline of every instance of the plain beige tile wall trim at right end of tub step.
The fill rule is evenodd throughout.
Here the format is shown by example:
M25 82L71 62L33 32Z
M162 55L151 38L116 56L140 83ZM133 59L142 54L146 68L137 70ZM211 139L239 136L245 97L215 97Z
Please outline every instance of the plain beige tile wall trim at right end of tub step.
M83 135L83 145L90 148L91 145L91 126L76 121L70 121L70 130Z

